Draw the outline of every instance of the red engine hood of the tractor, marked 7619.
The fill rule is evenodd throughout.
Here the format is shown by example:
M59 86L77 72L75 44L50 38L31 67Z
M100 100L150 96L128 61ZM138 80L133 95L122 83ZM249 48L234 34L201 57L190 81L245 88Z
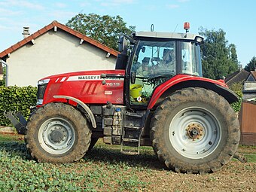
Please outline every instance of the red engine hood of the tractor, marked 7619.
M105 78L102 84L100 75L124 75L124 70L99 70L72 72L52 75L41 79L49 81L42 104L48 102L66 102L66 99L55 99L53 96L72 96L87 104L123 104L123 78Z

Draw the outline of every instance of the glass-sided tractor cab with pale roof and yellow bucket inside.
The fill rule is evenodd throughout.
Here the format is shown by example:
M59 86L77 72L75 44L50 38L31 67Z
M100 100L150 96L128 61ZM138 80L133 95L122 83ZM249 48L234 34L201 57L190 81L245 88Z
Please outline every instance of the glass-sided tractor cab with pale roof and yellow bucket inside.
M188 30L188 29L187 29ZM200 35L136 32L120 38L116 69L126 69L130 106L147 106L156 87L175 75L202 77ZM130 41L130 46L127 46Z

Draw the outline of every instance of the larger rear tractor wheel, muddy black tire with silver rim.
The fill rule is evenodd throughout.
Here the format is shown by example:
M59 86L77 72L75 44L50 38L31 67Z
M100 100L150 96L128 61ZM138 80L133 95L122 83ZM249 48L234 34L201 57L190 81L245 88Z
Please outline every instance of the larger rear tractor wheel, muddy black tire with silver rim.
M212 90L186 88L159 105L151 141L160 161L175 172L215 172L228 163L240 139L229 103Z

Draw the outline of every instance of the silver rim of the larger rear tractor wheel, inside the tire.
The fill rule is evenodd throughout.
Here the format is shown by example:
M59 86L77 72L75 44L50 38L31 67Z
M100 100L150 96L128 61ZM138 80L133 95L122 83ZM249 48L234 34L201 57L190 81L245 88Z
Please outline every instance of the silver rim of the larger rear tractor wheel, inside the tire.
M201 159L218 147L220 127L216 117L205 108L184 108L169 125L169 140L183 157Z

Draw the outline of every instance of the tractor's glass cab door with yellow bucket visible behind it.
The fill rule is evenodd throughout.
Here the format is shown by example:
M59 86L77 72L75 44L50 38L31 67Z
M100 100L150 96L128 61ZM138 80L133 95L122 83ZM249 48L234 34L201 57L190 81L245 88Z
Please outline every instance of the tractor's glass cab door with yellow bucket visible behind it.
M172 78L175 68L175 41L139 41L130 70L131 107L147 106L154 89Z

